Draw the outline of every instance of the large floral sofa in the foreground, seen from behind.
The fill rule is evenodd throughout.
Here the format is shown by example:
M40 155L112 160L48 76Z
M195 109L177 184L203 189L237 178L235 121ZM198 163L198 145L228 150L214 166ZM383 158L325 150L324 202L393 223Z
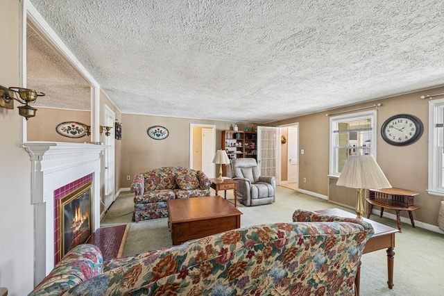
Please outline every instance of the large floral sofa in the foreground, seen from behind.
M354 295L367 222L297 210L262 224L102 261L78 245L29 294Z

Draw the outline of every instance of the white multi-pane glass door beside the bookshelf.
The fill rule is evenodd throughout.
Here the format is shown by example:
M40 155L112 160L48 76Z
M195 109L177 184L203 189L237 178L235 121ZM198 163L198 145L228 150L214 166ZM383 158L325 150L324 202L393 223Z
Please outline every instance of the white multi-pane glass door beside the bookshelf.
M278 176L278 134L277 127L257 126L257 165L262 176Z

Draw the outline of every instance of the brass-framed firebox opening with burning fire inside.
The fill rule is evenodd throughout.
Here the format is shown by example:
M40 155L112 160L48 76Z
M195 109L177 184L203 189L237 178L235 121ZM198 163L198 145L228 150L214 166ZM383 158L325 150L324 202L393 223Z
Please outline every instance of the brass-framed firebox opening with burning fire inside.
M60 258L92 234L92 183L70 193L60 201ZM59 258L59 260L60 260Z

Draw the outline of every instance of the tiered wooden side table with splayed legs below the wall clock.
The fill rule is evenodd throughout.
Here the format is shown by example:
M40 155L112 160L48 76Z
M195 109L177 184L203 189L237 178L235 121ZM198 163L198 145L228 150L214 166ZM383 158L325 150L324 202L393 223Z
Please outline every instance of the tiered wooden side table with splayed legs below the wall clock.
M413 204L413 197L419 195L418 192L400 189L400 188L382 188L382 189L369 189L368 197L368 213L367 218L372 213L373 206L379 206L381 208L381 215L384 213L384 208L396 211L396 221L398 222L398 229L401 232L401 217L400 211L409 211L409 217L411 226L415 227L413 221L412 211L418 210L418 206Z

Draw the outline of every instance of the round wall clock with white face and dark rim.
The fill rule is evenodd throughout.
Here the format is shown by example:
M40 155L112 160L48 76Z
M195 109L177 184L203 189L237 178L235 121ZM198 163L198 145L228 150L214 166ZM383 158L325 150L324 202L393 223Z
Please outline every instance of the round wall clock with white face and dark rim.
M381 127L382 138L395 146L410 145L422 135L421 120L413 115L398 114L388 118Z

